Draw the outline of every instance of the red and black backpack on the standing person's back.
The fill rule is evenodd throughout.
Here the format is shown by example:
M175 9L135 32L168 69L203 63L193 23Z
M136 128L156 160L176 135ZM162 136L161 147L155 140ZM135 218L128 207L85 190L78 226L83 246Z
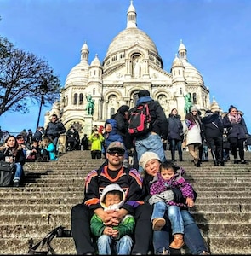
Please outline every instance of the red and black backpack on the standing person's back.
M139 137L150 131L151 114L148 104L140 104L132 109L128 119L128 132L131 136Z

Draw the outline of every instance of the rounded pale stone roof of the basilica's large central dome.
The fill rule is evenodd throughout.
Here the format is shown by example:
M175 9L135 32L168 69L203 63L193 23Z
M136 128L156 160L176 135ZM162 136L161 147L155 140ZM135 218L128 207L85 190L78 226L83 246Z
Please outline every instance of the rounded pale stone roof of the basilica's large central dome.
M107 50L106 56L112 55L112 53L121 51L123 49L128 49L135 44L139 44L145 49L148 49L158 55L156 45L145 32L137 27L129 27L113 38Z

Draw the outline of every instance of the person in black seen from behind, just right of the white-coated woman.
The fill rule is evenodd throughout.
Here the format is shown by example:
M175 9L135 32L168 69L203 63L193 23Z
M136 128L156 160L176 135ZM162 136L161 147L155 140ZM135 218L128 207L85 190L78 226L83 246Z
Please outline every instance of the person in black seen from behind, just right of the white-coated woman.
M214 166L224 166L223 159L223 124L219 113L207 110L201 119L208 147L214 160Z

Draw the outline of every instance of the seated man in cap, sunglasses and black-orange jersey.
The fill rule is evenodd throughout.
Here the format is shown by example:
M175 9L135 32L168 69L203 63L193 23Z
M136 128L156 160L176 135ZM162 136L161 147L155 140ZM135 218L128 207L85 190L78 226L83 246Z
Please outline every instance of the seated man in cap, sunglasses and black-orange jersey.
M123 143L110 143L106 149L105 162L98 170L88 173L85 178L83 203L71 209L71 231L77 254L95 253L90 232L90 219L97 214L104 224L117 225L121 219L132 214L135 218L134 247L132 254L147 254L151 245L151 206L140 202L142 180L136 169L123 167L125 148ZM100 197L107 185L117 183L126 194L126 201L117 210L104 211L100 206ZM143 236L144 235L144 236Z

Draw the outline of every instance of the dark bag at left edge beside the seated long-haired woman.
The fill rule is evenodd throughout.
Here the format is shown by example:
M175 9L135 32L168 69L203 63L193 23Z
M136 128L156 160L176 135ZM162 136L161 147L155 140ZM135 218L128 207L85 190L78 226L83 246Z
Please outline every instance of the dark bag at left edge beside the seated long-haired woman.
M9 187L14 177L14 163L0 161L0 187Z

